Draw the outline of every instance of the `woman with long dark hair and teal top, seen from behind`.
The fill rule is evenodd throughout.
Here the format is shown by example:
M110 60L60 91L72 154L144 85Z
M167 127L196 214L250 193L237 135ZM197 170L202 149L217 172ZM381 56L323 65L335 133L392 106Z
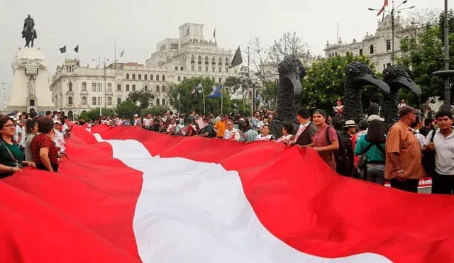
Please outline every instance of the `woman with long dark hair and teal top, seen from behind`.
M358 139L355 147L355 155L365 155L361 159L366 158L366 181L384 184L385 142L386 135L382 121L370 121L367 133Z

